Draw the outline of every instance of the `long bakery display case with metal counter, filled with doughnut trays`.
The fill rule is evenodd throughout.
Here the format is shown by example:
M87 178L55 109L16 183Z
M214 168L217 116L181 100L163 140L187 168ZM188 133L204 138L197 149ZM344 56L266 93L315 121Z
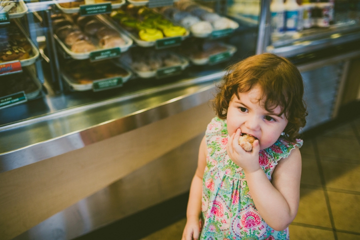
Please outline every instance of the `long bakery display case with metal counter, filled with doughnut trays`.
M2 237L73 239L138 211L124 211L106 187L201 134L216 83L247 56L296 64L306 127L335 117L360 57L360 8L287 1L0 1L0 182L14 182L0 188ZM285 21L290 10L296 18ZM38 204L27 208L28 199Z

